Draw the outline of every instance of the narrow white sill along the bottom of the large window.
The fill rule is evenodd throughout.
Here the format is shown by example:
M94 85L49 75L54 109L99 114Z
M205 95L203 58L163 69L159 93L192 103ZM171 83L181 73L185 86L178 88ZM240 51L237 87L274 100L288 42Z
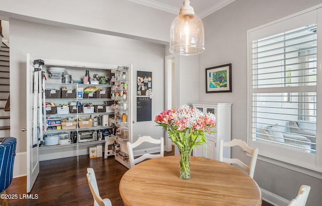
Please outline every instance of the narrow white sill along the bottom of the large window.
M251 157L250 154L246 154L246 155L248 157ZM289 169L289 170L293 170L293 171L296 171L296 172L299 172L299 173L302 173L305 175L309 175L311 177L322 179L322 170L318 169L318 168L304 168L301 166L297 166L297 165L283 162L281 160L272 159L270 157L267 157L265 154L258 154L257 159L264 161L264 162L271 163L273 165L277 165L277 166Z

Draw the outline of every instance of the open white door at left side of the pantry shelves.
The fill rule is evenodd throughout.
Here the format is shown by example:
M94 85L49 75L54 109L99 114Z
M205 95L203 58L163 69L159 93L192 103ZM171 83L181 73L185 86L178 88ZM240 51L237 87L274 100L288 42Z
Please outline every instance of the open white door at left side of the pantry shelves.
M27 54L27 192L30 192L39 174L38 154L38 73L34 72L33 60ZM35 75L36 74L36 75ZM35 92L34 92L35 91Z

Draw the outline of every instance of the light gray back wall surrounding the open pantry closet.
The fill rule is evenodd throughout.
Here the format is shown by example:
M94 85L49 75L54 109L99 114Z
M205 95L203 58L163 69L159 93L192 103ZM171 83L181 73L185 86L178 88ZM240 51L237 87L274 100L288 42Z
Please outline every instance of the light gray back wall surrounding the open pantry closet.
M136 71L152 72L153 99L152 121L136 122L133 125L133 138L137 134L160 137L164 132L154 126L154 116L164 109L164 62L165 45L148 43L122 37L78 31L55 26L10 19L10 90L11 90L11 136L18 138L15 176L25 175L23 161L26 153L26 54L33 57L106 63L116 65L133 64L133 77ZM84 71L82 70L82 73ZM133 86L136 88L136 81ZM133 97L136 94L133 94ZM133 99L136 108L136 99Z

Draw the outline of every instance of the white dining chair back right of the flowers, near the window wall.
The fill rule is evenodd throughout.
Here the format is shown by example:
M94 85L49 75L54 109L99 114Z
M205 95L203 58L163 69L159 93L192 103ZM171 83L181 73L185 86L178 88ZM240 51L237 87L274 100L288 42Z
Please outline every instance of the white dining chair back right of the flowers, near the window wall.
M237 158L224 158L223 157L223 147L234 147L234 146L239 146L239 147L243 148L244 151L246 151L252 155L251 163L249 166L246 165L244 162L241 162ZM230 164L237 164L241 168L246 170L248 172L248 174L250 175L250 177L253 178L254 172L255 172L257 156L258 156L258 150L259 150L258 148L255 148L255 149L250 148L245 143L245 141L242 141L242 140L233 139L230 142L223 142L223 140L220 140L219 141L219 161L230 163Z

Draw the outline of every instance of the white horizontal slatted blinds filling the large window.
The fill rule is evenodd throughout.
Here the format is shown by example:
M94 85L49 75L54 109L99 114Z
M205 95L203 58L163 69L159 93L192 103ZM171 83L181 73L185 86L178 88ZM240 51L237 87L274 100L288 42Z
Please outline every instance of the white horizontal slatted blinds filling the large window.
M252 42L253 139L315 152L316 31L311 24Z

